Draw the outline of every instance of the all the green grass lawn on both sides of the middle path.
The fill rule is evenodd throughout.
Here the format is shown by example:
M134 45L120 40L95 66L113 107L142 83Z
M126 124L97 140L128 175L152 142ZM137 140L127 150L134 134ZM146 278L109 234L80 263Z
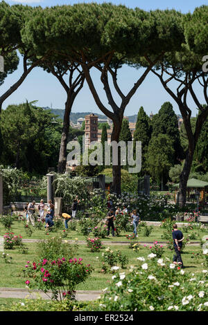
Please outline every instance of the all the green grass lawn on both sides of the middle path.
M21 234L24 239L49 239L53 236L61 236L64 230L64 223L62 229L58 230L57 232L49 232L49 235L46 234L45 230L36 230L33 232L31 237L26 236L26 232L24 230L24 225L21 221L15 221L12 225L12 228L10 231L14 232L15 234ZM162 233L164 229L159 227L154 227L153 232L150 234L150 236L144 236L142 234L142 230L139 233L139 237L137 238L137 241L135 242L142 242L142 241L165 241L162 239ZM189 234L191 232L196 232L196 230L189 231ZM3 228L3 225L0 224L0 235L3 236L3 234L6 233L5 228ZM126 233L127 234L127 233ZM205 236L205 232L200 232L200 236ZM89 234L89 236L93 236L92 233ZM187 236L187 233L184 233L184 236ZM207 234L208 237L208 234ZM80 234L80 232L71 231L67 235L65 239L67 240L75 240L78 239L79 241L85 241L85 236L83 234ZM199 239L196 239L195 241L198 241ZM130 265L136 265L137 264L137 257L143 256L147 257L148 254L150 254L150 250L148 248L144 248L144 245L141 245L141 249L139 252L135 252L133 250L130 250L128 248L128 245L122 245L116 242L118 241L125 241L126 243L130 243L128 239L125 237L125 233L121 233L120 236L117 237L107 237L102 240L104 243L104 247L107 248L108 245L110 245L111 241L114 241L115 244L111 246L112 250L121 250L124 254L128 255L129 263L128 266L126 266L125 271L128 272ZM194 241L194 240L191 240ZM0 287L13 287L13 288L24 288L26 278L24 278L24 266L26 265L26 261L37 261L37 255L35 253L36 250L36 243L25 243L25 245L28 247L28 254L20 254L17 249L15 250L6 250L6 253L8 253L12 257L12 264L5 263L2 256L0 255ZM104 248L103 248L104 250ZM94 268L94 271L92 272L92 275L84 284L80 284L78 286L78 290L101 290L107 286L107 284L111 281L112 275L110 274L103 274L101 272L101 254L103 252L98 253L92 253L89 251L89 248L87 248L84 244L79 244L79 249L76 254L76 257L82 257L84 263L91 264ZM193 255L193 253L195 253ZM193 256L196 256L197 258L193 258ZM98 257L98 259L96 259ZM173 258L173 252L168 250L168 248L165 248L164 257L168 257L172 260ZM182 255L182 259L184 261L184 266L187 268L188 272L199 272L203 266L202 263L202 251L200 249L200 246L191 246L187 245L187 247L184 250L184 254Z

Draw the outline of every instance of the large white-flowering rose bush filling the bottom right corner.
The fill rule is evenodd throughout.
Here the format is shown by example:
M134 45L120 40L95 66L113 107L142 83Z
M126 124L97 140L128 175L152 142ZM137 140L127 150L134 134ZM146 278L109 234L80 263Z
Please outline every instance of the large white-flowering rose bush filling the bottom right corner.
M153 255L147 261L138 257L138 265L130 266L128 275L116 272L98 310L208 310L207 270L190 274Z

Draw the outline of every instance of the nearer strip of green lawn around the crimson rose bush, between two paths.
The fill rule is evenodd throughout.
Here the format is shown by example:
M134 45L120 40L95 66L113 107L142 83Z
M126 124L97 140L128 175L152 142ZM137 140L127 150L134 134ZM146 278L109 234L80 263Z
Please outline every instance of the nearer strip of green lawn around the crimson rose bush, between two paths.
M0 258L0 287L13 287L13 288L24 288L26 277L24 277L24 266L27 261L37 261L35 257L36 243L26 243L28 247L28 254L20 254L17 249L6 250L5 252L12 257L12 263L5 263L3 258ZM105 245L107 248L107 245ZM105 250L103 248L101 252L90 252L86 245L79 245L78 252L75 257L82 257L83 262L86 264L91 264L94 268L91 277L87 279L84 284L78 286L78 290L101 290L107 286L111 281L111 274L103 274L101 272L101 254ZM143 246L139 252L135 252L128 248L128 245L113 245L112 250L121 250L124 254L128 255L129 263L123 271L128 272L130 265L137 265L137 257L147 257L150 254L150 249L144 248ZM193 253L199 253L197 258L193 258ZM96 259L98 257L98 259ZM173 252L165 248L164 256L172 260ZM184 261L184 270L187 269L188 272L199 272L202 270L202 252L200 246L187 246L182 254L182 259Z

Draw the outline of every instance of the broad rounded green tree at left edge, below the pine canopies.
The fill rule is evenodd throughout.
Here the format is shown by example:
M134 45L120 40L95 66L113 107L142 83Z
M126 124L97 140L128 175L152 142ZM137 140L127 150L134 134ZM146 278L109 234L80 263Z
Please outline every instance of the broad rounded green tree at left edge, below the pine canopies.
M55 115L33 102L8 106L1 113L3 163L39 174L56 167L60 127Z

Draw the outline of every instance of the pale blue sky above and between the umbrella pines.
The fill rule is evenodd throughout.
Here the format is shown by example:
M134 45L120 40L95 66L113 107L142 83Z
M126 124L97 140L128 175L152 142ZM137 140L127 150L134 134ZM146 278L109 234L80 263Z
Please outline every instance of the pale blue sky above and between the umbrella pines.
M1 2L1 1L0 1ZM62 4L69 4L72 5L73 3L90 3L92 1L64 1L64 0L44 0L44 1L31 1L31 0L22 0L22 1L6 1L10 5L15 3L25 3L29 4L31 6L55 6L55 5L62 5ZM97 3L102 3L104 1L94 1ZM108 1L105 1L108 2ZM159 9L166 9L166 8L174 8L176 10L180 10L181 12L193 12L194 8L197 6L202 6L202 4L207 4L208 1L200 1L200 0L191 0L191 1L164 1L164 0L112 0L110 1L114 4L125 4L125 6L128 6L130 8L139 7L144 10L155 10L157 8ZM208 55L208 53L205 53L205 55ZM137 81L138 76L141 74L142 70L137 71L134 68L130 68L128 66L123 66L121 71L119 71L119 84L121 86L121 89L124 93L127 93L130 88L133 86L133 84ZM8 75L6 78L4 84L0 88L0 93L4 93L10 86L19 78L19 76L22 73L21 63L19 64L19 68L15 73L12 73L12 75ZM96 84L96 87L98 89L99 95L101 95L101 98L107 106L107 101L105 99L105 93L103 93L103 86L101 85L101 82L99 80L99 75L96 73L96 71L93 72L93 79L94 83ZM200 88L196 88L196 93L200 97L200 94L202 91L200 91ZM202 97L200 97L202 100ZM55 109L64 109L64 102L66 101L66 94L64 92L64 89L56 80L56 78L53 75L49 75L49 73L46 73L42 71L40 68L35 68L30 75L26 78L23 84L13 93L8 100L6 100L3 104L3 109L6 109L8 104L17 104L20 102L24 102L25 100L32 101L32 100L38 100L37 104L40 106L51 106ZM116 97L116 100L119 98ZM132 97L132 100L128 104L127 108L125 109L125 115L133 115L136 114L139 111L140 106L144 106L144 110L146 113L150 114L151 111L153 113L157 113L159 108L162 106L162 104L166 101L170 101L173 104L175 113L180 113L177 109L177 105L175 102L173 102L172 98L164 91L162 84L160 84L159 80L157 80L157 77L153 75L152 73L149 73L148 77L146 77L146 80L141 84L139 87L137 93ZM203 100L202 100L203 102ZM195 104L191 101L189 101L189 104L191 105L191 108L193 108L193 115L196 115L196 110L194 109ZM92 94L90 93L87 83L85 82L85 85L78 94L78 97L76 98L76 101L73 104L72 108L73 112L87 112L92 111L95 113L101 113L101 111L96 106L94 99L92 97Z

